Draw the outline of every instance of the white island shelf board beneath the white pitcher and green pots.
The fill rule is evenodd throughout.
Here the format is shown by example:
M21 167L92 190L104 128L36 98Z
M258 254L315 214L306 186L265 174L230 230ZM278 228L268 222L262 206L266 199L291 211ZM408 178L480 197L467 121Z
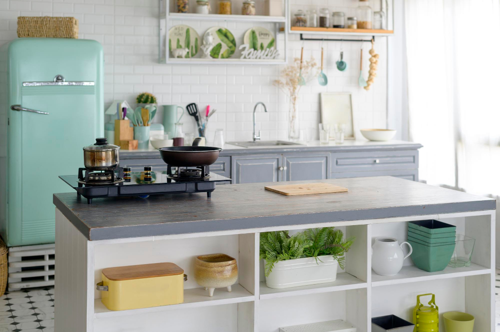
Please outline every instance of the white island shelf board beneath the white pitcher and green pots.
M443 271L426 272L414 265L405 266L395 276L379 276L371 271L371 287L397 285L405 283L417 283L421 281L459 278L490 274L491 269L471 263L468 267L452 268L446 267Z

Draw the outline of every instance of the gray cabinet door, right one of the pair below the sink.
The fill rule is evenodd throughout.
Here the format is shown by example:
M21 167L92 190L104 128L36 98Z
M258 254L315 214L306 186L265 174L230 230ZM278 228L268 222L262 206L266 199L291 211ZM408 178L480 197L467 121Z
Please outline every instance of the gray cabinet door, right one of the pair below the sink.
M323 180L328 175L329 156L316 153L284 154L284 181Z

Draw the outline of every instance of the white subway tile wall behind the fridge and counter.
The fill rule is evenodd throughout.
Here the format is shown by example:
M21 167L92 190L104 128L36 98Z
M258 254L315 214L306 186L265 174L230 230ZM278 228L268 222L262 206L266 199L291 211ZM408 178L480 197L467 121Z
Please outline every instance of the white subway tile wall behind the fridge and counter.
M211 2L214 12L216 3L214 0ZM240 2L233 0L234 13L238 13ZM293 10L298 7L329 7L349 13L357 6L357 1L291 0L290 4ZM190 0L190 5L194 8L195 0ZM268 110L268 113L257 110L257 130L261 130L262 139L286 139L288 98L272 84L282 66L158 63L158 13L159 0L0 0L0 44L17 38L17 16L74 16L79 21L79 38L95 39L103 46L106 108L116 99L126 99L134 104L135 96L144 91L156 95L158 104L184 107L196 102L202 110L209 104L217 112L208 123L207 140L211 141L215 129L221 128L224 129L226 141L231 141L251 139L253 106L257 101L262 101ZM183 23L191 25L200 35L207 27L214 25L213 22ZM240 22L221 22L220 25L229 28L238 42L241 42L244 31L251 26ZM278 38L282 43L283 35L280 34ZM300 47L303 45L304 58L313 56L319 63L320 41L303 43L296 34L290 34L288 41L290 60L300 56ZM320 86L314 79L300 91L300 129L306 129L309 139L317 139L315 129L320 121L320 92L352 93L355 129L385 128L386 37L376 38L375 50L380 59L375 83L369 91L357 86L361 46L364 50L363 75L367 78L370 43L324 42L324 71L328 76L328 85ZM340 50L343 50L347 62L347 69L343 72L335 67ZM161 112L158 111L154 122L161 122ZM182 122L184 132L195 132L192 117L185 114ZM361 136L358 130L356 136Z

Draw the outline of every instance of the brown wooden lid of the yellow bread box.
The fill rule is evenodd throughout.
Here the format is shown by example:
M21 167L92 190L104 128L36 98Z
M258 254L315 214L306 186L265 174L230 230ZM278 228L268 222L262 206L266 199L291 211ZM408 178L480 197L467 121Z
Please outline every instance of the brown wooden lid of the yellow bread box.
M102 275L113 281L176 276L183 273L184 270L173 263L119 266L102 270Z

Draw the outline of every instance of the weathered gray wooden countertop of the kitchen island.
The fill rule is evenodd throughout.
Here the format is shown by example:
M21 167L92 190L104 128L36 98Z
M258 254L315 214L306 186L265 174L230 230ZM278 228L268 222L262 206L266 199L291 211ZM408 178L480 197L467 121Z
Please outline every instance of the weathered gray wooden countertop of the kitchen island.
M282 196L265 183L217 186L206 194L96 198L54 194L56 208L89 240L286 227L323 222L495 209L495 200L395 177L296 181L324 182L346 193ZM281 182L289 184L291 182ZM276 185L276 183L273 183Z

